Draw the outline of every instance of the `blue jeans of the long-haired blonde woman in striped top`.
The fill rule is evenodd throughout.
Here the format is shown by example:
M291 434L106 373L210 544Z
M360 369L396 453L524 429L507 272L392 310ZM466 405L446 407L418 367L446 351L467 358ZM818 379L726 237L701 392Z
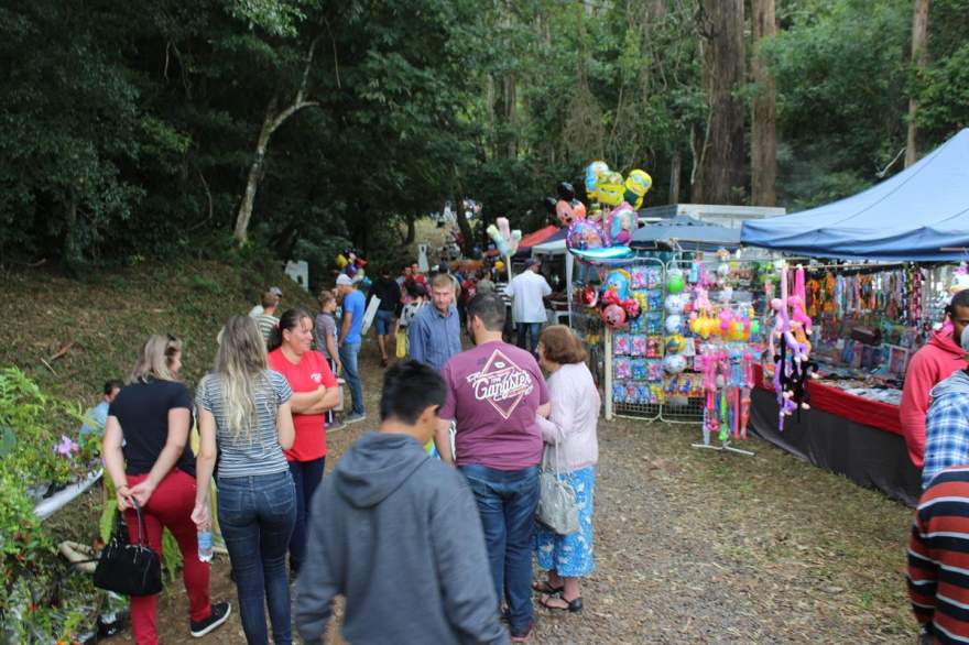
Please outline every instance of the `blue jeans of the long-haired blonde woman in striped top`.
M229 550L246 639L291 643L286 549L296 522L296 491L288 472L219 478L219 526Z

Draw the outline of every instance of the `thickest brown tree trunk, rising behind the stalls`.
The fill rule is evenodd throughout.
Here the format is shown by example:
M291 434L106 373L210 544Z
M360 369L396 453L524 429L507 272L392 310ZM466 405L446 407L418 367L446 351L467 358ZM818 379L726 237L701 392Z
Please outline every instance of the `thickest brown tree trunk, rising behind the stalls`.
M744 185L743 0L703 0L704 87L709 107L707 132L698 141L692 199L706 204L737 204Z

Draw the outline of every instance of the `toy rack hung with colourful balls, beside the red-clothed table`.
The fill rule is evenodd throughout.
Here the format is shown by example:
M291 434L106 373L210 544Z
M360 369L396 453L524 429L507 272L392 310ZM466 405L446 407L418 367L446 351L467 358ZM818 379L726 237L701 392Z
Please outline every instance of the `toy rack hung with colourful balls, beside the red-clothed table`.
M675 261L666 267L663 390L666 422L700 422L704 445L747 438L753 365L764 349L770 264Z

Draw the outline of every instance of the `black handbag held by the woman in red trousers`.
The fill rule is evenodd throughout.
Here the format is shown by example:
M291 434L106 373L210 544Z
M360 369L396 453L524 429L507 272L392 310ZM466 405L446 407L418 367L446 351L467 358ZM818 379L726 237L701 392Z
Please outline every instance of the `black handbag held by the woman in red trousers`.
M154 595L162 591L162 561L148 545L148 531L141 506L135 501L138 542L129 544L128 527L119 512L115 531L98 559L95 587L124 595Z

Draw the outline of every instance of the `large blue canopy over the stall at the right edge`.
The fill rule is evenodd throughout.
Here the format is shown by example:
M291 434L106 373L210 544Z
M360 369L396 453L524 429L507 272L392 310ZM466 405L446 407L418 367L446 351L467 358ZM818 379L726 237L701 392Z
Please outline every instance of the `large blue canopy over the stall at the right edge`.
M741 241L802 255L965 260L969 250L969 129L868 190L818 208L744 221Z

